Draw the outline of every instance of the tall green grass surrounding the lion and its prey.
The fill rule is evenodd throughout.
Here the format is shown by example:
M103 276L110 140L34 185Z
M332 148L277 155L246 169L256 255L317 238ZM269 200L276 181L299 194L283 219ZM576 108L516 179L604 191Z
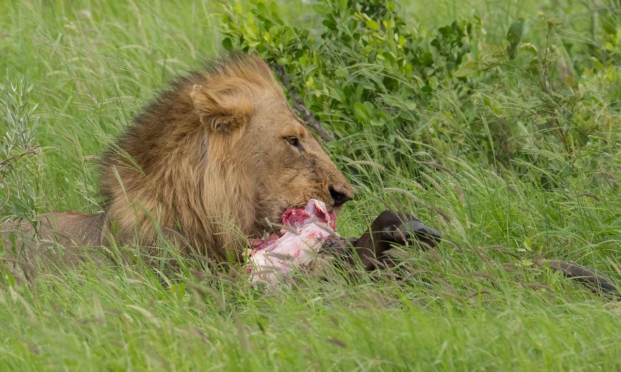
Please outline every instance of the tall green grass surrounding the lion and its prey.
M420 2L404 12L427 29L478 14L502 38L515 17L535 17L551 3L446 1L431 9ZM41 148L0 179L11 190L2 193L9 202L0 204L0 217L100 211L93 157L173 75L214 55L219 9L201 1L1 2L0 71L10 83L26 76L33 84L26 106L38 104L30 117L40 117ZM312 25L309 9L281 6L286 19ZM450 91L443 94L447 107L456 105ZM449 111L426 119L468 138L469 123ZM614 139L621 121L612 115L606 134ZM576 260L619 283L618 144L602 140L579 156L541 152L539 165L504 166L476 143L464 157L395 134L425 152L381 166L391 157L382 138L341 140L368 157L353 165L335 159L356 192L339 232L360 234L384 203L407 206L440 230L446 240L436 250L401 252L414 273L404 281L390 273L348 280L327 268L329 282L302 278L262 293L200 265L166 272L35 266L30 280L4 268L0 370L621 370L619 303L528 261ZM348 173L352 166L357 173ZM542 174L563 179L562 187L535 182Z

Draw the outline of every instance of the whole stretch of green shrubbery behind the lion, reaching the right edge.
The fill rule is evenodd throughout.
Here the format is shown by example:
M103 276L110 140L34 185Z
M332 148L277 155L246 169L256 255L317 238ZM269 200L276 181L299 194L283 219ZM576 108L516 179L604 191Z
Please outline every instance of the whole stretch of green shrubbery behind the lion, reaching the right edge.
M319 1L319 30L285 24L275 2L250 3L225 6L223 46L282 66L297 98L344 138L330 143L338 155L366 158L368 148L356 146L363 135L394 148L379 159L384 163L398 164L427 143L501 167L546 158L560 170L590 151L589 143L617 140L610 131L618 119L611 102L619 97L615 58L574 63L568 50L579 46L556 38L561 22L543 13L516 20L504 43L490 44L476 16L415 32L391 1ZM527 34L533 43L524 42L525 25L534 29ZM618 27L610 31L620 34ZM614 32L607 43L618 42ZM604 91L595 81L602 70L610 79ZM554 157L542 153L566 159L553 165Z

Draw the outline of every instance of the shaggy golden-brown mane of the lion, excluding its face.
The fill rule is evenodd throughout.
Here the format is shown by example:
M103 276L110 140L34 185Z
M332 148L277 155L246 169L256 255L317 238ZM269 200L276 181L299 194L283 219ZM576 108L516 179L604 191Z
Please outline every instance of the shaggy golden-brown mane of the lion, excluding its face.
M252 233L258 197L230 152L252 102L283 91L258 57L232 54L176 79L104 155L101 193L121 243L155 245L160 234L222 258ZM223 125L225 124L225 125ZM241 131L237 131L239 133ZM234 221L242 234L227 234Z

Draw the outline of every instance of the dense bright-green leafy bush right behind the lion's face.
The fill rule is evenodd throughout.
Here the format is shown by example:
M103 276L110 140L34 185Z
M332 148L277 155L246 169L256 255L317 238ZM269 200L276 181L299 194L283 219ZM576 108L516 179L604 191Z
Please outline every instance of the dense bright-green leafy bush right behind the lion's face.
M248 12L227 6L224 47L256 51L283 66L307 107L337 137L370 129L397 153L407 145L397 141L394 128L409 135L424 129L420 112L441 82L453 84L469 51L471 24L453 22L425 38L407 30L392 2L320 2L314 8L321 17L319 37L285 25L274 2L252 3ZM335 147L353 155L345 143Z

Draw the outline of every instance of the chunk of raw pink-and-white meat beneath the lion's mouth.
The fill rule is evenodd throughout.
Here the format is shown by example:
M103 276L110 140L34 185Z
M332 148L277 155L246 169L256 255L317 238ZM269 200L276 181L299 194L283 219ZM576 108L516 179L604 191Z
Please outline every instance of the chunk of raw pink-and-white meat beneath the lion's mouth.
M282 236L250 239L248 274L253 283L274 284L279 276L310 263L314 253L335 232L336 217L324 202L311 199L304 208L288 209L283 214Z

